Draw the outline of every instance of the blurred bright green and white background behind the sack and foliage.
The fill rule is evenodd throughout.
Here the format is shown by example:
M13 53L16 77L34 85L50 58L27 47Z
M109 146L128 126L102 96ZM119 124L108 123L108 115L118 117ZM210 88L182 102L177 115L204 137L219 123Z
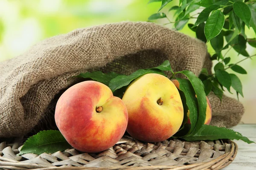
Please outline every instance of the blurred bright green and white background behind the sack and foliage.
M17 57L40 40L77 28L121 21L147 21L161 4L147 3L148 0L0 0L0 62ZM163 12L167 14L173 5L178 5L178 0L168 4ZM172 12L168 13L168 17L174 20ZM168 21L160 19L156 22L164 24ZM189 23L195 23L195 19L189 20ZM166 26L173 28L172 24ZM247 28L245 31L249 38L256 37L253 29ZM188 26L181 32L195 37ZM211 46L207 46L209 53L214 54ZM247 45L247 51L250 55L256 54L255 48L250 45ZM231 57L233 63L244 58L237 56L233 49L227 56ZM241 122L256 123L256 58L247 59L240 65L248 72L247 75L238 74L244 92L244 98L240 96L240 101L246 110ZM225 94L236 98L235 93Z

